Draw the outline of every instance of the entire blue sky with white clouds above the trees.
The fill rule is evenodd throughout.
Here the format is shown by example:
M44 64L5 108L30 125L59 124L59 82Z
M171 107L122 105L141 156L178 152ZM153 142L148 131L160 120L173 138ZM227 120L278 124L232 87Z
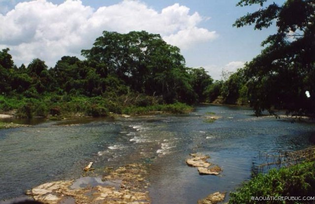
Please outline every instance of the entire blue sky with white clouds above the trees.
M282 4L284 0L273 0ZM267 1L273 2L273 1ZM17 66L39 58L54 67L63 56L81 56L102 31L160 34L178 46L186 66L203 67L214 79L236 71L260 53L275 26L255 31L232 27L259 5L238 0L0 0L0 49Z

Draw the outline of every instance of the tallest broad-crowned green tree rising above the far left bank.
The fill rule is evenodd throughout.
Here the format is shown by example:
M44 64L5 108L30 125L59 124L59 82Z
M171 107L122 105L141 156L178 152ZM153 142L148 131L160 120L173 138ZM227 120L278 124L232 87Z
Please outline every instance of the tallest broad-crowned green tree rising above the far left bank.
M159 34L104 31L82 55L101 77L116 76L135 92L163 96L166 102L195 100L180 49Z

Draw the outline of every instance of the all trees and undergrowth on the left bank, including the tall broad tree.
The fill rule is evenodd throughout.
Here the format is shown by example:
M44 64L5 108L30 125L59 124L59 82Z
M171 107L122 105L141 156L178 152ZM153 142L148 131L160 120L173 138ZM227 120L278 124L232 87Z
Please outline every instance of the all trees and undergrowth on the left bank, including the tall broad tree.
M185 112L206 101L213 79L187 68L179 48L158 34L103 32L86 60L64 56L48 68L40 59L17 67L0 51L0 110L18 117L114 113Z

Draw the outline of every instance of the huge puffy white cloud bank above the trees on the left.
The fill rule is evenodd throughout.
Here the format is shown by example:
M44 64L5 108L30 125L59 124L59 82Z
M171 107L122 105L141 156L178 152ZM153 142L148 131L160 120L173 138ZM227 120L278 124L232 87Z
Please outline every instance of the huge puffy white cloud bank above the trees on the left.
M1 1L0 1L1 2ZM199 28L205 20L197 12L178 3L160 12L138 0L123 0L98 9L81 0L54 4L47 0L18 3L5 15L0 14L0 47L9 47L16 64L34 58L54 66L64 55L80 56L89 49L102 31L128 33L145 30L161 34L163 39L181 49L217 37L215 31Z

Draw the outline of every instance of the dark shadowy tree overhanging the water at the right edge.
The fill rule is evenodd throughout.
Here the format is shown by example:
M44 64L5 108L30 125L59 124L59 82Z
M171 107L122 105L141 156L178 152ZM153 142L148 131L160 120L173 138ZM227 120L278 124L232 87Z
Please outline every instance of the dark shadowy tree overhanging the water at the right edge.
M234 26L253 24L255 30L277 26L277 33L262 42L262 52L246 64L250 105L257 115L275 107L315 116L315 2L286 0L283 5L263 7L266 1L237 4L260 4L261 8L237 19Z

